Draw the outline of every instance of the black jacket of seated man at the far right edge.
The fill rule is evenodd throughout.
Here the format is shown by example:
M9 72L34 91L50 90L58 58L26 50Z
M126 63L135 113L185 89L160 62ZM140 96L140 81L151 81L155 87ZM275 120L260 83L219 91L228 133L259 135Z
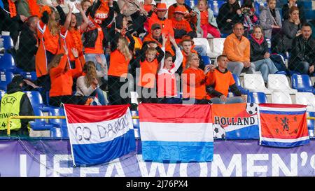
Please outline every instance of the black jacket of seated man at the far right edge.
M294 65L297 62L309 62L309 66L315 64L314 38L309 37L308 41L305 41L301 34L293 39L292 47L289 65Z

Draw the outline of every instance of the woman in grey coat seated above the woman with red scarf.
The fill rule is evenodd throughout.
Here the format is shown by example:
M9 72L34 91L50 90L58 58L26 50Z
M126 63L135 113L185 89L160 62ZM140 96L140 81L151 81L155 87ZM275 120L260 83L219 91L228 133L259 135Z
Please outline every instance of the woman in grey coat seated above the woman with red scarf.
M276 9L276 0L267 0L267 8L262 9L259 15L260 25L264 29L265 38L276 38L282 27L281 15Z

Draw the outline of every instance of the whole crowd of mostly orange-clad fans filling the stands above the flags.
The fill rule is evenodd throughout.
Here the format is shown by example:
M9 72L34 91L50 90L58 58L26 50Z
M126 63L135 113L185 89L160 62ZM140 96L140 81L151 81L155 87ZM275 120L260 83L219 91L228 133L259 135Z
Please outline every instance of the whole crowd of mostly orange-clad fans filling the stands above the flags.
M207 0L193 8L184 0L168 8L152 0L83 0L76 14L59 0L2 1L0 31L10 31L18 47L9 51L19 68L36 71L35 83L43 99L49 92L51 106L127 104L128 90L137 90L143 103L242 102L246 97L232 73L260 71L267 84L281 61L272 53L288 52L288 69L314 73L311 24L296 0L283 5L282 17L276 0L268 0L260 15L251 0L241 6L228 0L218 17ZM206 48L193 38L223 34L228 36L218 66L204 64ZM229 90L235 97L228 98Z

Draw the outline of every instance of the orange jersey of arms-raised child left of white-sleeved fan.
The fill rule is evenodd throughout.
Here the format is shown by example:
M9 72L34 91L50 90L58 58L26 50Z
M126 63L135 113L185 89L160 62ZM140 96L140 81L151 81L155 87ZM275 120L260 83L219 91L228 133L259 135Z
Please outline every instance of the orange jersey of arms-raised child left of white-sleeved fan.
M158 72L158 59L154 59L153 62L140 62L140 78L138 85L146 88L153 88L155 83L155 76Z

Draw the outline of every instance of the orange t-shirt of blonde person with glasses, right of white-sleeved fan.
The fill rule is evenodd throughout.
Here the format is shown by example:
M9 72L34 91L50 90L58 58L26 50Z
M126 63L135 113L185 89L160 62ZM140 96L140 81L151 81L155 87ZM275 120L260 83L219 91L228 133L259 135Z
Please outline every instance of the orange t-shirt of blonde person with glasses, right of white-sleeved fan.
M186 69L181 75L183 98L207 99L206 79L202 69Z

